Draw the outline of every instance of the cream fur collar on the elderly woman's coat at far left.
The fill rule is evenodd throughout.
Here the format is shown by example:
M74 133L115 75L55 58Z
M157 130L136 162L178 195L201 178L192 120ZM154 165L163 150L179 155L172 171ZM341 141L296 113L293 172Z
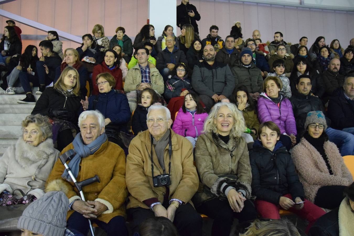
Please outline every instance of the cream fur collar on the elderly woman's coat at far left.
M15 159L23 168L27 168L33 163L48 159L54 152L53 140L47 138L44 142L34 147L20 137L15 145Z

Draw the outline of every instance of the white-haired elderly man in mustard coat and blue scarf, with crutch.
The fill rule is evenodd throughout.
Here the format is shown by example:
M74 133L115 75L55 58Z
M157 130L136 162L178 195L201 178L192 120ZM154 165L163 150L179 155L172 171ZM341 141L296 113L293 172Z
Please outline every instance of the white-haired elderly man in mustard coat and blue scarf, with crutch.
M108 236L129 235L125 226L125 154L109 142L104 132L104 117L97 110L79 116L80 133L62 153L73 149L76 155L67 162L78 182L98 175L100 182L83 188L82 201L73 180L58 160L49 175L46 191L61 190L69 198L67 226L83 235L89 232L89 221L96 223Z

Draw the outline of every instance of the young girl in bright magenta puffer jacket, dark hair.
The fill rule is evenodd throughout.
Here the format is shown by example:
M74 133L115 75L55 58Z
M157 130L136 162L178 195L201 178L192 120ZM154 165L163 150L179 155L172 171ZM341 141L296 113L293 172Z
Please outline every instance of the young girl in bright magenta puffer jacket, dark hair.
M179 109L172 130L186 137L193 145L200 134L202 134L204 120L208 114L199 102L197 94L191 92L184 97L184 104Z

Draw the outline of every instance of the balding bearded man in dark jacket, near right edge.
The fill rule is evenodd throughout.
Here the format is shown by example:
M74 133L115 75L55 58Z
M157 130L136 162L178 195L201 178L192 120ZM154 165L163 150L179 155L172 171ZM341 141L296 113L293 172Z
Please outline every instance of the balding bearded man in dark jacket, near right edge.
M326 87L325 96L323 98L324 103L333 95L333 93L343 86L344 76L339 74L339 68L341 67L341 61L339 59L332 59L328 65L328 70L322 73L322 80Z

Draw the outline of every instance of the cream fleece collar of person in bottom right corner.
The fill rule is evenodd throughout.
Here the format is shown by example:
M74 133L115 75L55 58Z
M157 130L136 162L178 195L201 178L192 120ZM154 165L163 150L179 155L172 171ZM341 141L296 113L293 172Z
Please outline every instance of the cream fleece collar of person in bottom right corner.
M354 235L354 212L345 197L338 212L339 236Z

